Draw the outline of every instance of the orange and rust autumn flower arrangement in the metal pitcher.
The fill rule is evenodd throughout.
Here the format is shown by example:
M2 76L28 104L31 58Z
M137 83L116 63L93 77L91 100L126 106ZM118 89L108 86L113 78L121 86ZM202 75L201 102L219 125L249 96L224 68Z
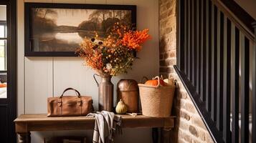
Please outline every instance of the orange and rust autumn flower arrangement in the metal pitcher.
M116 23L105 39L84 39L77 49L85 64L100 74L116 76L127 73L133 65L134 52L141 51L142 44L151 39L148 29L137 31L128 25Z

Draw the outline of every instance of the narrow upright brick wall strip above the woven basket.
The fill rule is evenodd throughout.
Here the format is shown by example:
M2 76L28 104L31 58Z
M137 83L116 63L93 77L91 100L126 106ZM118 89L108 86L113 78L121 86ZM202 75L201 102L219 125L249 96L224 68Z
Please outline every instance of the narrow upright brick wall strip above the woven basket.
M159 0L160 74L168 77L176 64L176 0Z

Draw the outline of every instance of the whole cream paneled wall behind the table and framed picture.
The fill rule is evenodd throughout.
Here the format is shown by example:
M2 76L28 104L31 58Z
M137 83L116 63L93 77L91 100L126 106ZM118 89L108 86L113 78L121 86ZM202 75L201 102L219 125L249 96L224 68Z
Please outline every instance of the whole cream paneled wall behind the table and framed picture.
M98 87L93 79L95 71L83 66L79 57L24 57L24 2L136 5L137 28L149 29L152 39L143 45L143 50L138 53L140 59L135 61L128 74L113 77L114 91L120 79L139 82L143 76L158 74L158 0L17 0L18 114L46 113L47 97L60 96L67 87L92 96L95 109L98 109ZM43 142L44 137L65 134L79 134L91 139L93 132L33 132L32 142ZM116 137L115 142L151 142L151 129L124 129L123 135Z

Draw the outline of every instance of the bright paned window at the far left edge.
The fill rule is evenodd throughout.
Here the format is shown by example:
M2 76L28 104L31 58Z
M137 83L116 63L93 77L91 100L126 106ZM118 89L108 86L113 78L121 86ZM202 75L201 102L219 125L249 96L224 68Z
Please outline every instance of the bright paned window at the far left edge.
M6 21L0 21L0 71L6 71L7 64L7 27Z

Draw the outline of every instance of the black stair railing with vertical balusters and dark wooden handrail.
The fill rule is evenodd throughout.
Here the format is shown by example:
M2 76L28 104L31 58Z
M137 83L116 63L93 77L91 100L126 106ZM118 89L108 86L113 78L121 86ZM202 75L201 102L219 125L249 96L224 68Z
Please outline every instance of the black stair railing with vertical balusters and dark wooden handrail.
M255 34L248 26L252 17L234 14L234 6L228 0L179 1L174 69L214 142L256 142Z

